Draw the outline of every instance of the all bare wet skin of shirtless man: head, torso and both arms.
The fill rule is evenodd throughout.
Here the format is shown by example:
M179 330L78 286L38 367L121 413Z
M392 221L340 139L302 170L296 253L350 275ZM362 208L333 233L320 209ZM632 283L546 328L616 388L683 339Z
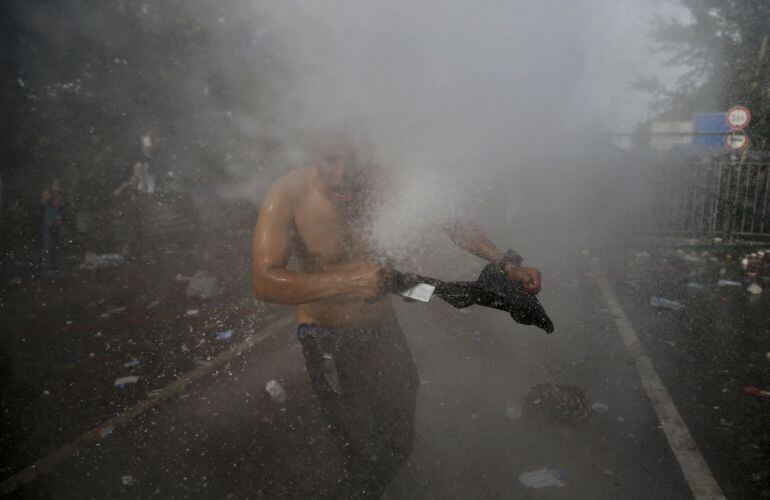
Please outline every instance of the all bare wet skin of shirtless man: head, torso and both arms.
M361 327L394 314L383 297L388 270L375 261L364 238L366 204L376 172L360 168L352 147L329 143L313 166L279 179L260 209L253 239L252 282L263 300L299 306L300 324ZM453 224L450 238L461 248L496 262L501 252L478 228ZM290 269L290 258L296 269ZM537 293L540 273L506 267L511 279Z

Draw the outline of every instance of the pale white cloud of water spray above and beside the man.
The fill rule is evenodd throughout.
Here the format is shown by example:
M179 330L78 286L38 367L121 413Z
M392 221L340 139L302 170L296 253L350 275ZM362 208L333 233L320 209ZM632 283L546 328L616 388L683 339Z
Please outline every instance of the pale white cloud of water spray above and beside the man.
M640 0L255 8L293 74L278 136L348 128L395 173L371 235L391 254L457 214L488 220L504 203L537 226L568 210L576 186L559 179L592 147L584 138L648 117L629 84L661 66L651 23L675 12Z

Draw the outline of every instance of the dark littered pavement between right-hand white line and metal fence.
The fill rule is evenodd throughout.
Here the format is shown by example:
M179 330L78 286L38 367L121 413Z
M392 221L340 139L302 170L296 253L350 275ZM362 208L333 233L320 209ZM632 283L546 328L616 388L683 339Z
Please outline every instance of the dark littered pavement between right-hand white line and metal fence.
M730 262L690 262L682 252L629 258L616 290L725 495L770 498L770 399L744 392L770 386L770 294L746 291L753 281L770 285L745 280L746 251L732 251ZM742 286L718 286L724 279ZM647 295L685 308L653 313Z

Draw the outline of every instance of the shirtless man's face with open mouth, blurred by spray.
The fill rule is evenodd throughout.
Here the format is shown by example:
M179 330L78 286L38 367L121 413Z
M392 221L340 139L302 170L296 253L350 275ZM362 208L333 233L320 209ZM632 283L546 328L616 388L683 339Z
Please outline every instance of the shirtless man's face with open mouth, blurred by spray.
M367 175L352 144L334 141L319 148L316 165L335 203L347 204L365 194Z

